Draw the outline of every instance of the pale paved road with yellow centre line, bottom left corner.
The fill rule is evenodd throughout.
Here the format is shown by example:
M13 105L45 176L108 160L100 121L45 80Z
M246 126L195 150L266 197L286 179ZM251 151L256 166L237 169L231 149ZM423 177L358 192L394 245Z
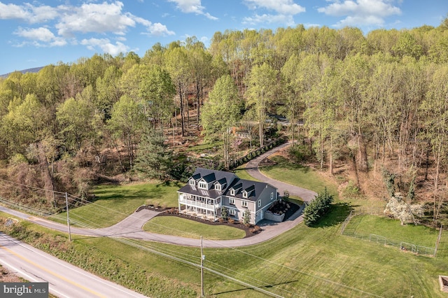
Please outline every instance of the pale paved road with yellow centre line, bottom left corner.
M146 297L0 233L0 264L57 297Z

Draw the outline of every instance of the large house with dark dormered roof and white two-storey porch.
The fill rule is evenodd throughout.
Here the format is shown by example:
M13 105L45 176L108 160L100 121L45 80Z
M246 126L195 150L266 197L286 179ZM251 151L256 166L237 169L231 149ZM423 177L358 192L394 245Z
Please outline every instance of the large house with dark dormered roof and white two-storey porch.
M179 212L216 221L223 208L229 218L243 221L251 213L251 223L265 218L265 211L278 198L277 189L267 183L240 179L235 173L197 168L179 193Z

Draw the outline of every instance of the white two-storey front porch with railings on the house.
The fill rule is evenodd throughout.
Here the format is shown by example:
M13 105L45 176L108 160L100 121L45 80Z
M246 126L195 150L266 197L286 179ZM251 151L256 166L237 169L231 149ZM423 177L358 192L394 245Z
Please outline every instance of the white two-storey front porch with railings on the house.
M179 213L216 221L221 217L221 197L211 199L193 194L179 194Z

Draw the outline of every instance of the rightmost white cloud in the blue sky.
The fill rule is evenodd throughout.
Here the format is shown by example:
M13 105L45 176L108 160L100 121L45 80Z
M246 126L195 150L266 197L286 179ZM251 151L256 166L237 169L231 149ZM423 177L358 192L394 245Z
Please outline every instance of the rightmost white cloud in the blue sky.
M318 8L319 13L335 17L345 17L334 27L384 24L391 15L400 15L401 10L393 6L393 0L332 0L328 6Z

